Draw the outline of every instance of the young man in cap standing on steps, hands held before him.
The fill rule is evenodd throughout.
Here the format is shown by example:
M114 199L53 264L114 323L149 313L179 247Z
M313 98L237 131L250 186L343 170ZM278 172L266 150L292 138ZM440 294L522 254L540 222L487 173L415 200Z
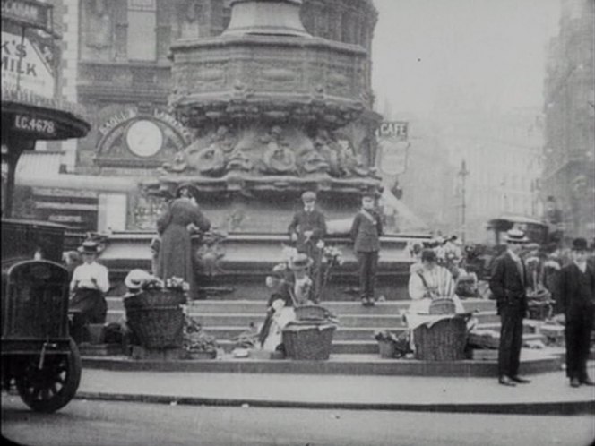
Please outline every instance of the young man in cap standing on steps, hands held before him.
M312 191L302 193L304 209L298 210L291 223L288 232L292 242L296 242L298 253L305 253L313 261L313 267L308 270L310 277L314 280L315 300L320 298L319 289L322 282L322 249L319 242L326 235L326 222L320 210L315 209L316 194Z

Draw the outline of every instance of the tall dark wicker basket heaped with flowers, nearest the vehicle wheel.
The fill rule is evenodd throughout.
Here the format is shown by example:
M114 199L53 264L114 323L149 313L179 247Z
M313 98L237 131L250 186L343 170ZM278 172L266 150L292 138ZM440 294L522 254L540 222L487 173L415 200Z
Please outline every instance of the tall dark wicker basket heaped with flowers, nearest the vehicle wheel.
M188 284L183 279L165 281L131 271L125 279L126 322L145 348L182 347Z

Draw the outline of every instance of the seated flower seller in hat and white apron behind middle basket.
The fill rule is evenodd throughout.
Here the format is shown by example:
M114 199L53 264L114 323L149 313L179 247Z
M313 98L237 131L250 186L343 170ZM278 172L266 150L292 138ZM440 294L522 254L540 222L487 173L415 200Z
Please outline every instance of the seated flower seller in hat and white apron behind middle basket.
M294 307L313 304L313 281L307 275L312 262L306 254L298 253L289 260L289 270L285 263L280 263L273 268L272 276L267 277L267 286L272 288L272 294L258 334L263 350L280 350L282 330L296 319Z

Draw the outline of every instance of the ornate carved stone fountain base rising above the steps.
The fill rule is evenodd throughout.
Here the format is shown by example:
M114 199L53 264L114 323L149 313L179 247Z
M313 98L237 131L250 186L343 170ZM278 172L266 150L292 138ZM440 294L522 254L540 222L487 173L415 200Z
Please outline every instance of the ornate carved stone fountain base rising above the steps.
M169 105L195 139L142 189L171 196L180 184L194 184L205 214L226 232L200 248L205 296L266 292L264 276L289 244L287 227L304 191L317 192L329 226L338 227L332 222L357 212L360 193L381 189L374 159L362 149L374 143L374 129L361 124L374 116L366 49L310 36L300 4L237 0L222 35L171 47ZM327 237L347 259L329 287L333 299L357 289L348 225ZM407 243L383 242L379 285L389 298L409 272Z

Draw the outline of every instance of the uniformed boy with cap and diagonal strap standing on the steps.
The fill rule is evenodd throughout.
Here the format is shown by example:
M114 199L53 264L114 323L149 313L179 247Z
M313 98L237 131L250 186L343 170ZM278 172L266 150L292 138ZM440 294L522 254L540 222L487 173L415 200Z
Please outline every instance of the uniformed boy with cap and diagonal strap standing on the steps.
M358 257L359 265L359 296L364 306L375 303L374 285L376 268L378 266L378 252L380 251L380 236L383 233L382 219L375 210L377 193L362 195L362 207L356 214L351 225L353 251Z

